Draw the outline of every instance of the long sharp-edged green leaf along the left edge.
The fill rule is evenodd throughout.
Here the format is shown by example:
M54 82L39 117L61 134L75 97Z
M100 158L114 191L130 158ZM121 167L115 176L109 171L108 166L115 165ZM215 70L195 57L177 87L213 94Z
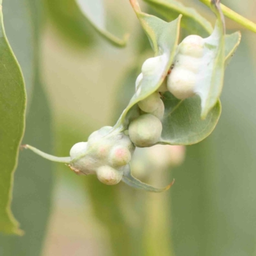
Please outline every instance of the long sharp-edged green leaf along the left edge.
M19 223L10 209L13 173L17 166L19 145L24 134L26 92L24 79L12 49L6 38L0 6L0 231L22 234Z

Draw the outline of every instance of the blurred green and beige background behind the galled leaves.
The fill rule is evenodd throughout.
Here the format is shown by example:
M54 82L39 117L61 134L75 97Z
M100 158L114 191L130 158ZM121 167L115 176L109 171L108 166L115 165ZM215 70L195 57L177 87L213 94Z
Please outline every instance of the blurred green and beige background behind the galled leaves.
M182 3L214 22L198 1ZM256 22L255 1L222 3ZM4 1L6 33L28 90L24 143L68 156L91 132L115 124L131 97L150 46L129 1L104 4L109 31L120 38L131 33L127 47L100 37L74 1ZM1 235L0 255L256 256L256 35L227 20L228 32L237 29L242 41L211 136L187 147L182 164L173 150L170 166L148 168L151 157L137 153L135 175L155 186L175 178L169 191L106 186L20 152L12 209L26 234Z

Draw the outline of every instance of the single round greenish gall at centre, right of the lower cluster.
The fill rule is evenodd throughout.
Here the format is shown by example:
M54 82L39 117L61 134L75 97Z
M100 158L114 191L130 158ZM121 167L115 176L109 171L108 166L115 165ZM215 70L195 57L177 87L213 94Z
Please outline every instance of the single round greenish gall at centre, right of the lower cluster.
M150 147L159 141L163 126L153 115L141 115L129 125L131 141L138 147Z

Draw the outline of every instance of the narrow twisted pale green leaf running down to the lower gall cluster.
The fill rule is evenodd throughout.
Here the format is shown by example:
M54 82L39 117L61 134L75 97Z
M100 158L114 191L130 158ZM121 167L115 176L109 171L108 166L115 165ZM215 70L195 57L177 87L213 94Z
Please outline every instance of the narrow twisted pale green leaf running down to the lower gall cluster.
M155 57L150 59L154 61L155 67L151 74L142 72L143 79L140 82L140 89L133 95L127 108L125 108L115 125L115 127L120 129L126 129L129 124L129 120L126 117L132 106L140 100L147 98L153 92L156 92L157 88L163 83L175 55L181 19L180 15L173 22L165 22L153 15L141 12L136 1L132 0L131 3L154 50Z

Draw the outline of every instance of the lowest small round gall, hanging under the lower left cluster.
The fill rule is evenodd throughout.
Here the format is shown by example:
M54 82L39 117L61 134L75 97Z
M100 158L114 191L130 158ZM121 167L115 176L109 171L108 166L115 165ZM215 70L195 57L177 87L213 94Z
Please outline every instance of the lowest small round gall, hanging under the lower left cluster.
M96 174L100 182L107 185L118 184L123 176L122 170L116 170L108 165L100 166Z

